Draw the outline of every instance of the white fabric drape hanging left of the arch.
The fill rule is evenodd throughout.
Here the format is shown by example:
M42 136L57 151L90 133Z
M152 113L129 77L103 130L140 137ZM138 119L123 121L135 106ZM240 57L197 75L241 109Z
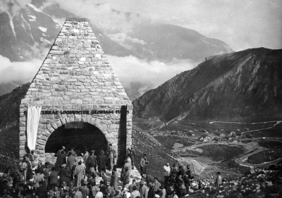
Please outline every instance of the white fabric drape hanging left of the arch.
M27 147L35 150L41 107L27 107Z

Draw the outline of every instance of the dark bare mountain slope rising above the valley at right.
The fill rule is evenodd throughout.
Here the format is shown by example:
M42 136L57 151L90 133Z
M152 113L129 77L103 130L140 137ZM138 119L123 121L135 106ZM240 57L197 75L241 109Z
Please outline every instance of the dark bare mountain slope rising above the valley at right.
M282 50L215 55L133 101L134 117L269 120L282 117Z

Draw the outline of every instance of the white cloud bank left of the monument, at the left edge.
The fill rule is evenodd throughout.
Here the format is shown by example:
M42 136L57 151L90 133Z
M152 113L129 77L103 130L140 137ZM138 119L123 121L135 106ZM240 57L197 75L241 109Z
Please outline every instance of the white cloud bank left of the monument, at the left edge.
M35 77L41 65L42 60L39 59L11 62L8 58L0 55L0 84L12 83L13 81L25 84Z

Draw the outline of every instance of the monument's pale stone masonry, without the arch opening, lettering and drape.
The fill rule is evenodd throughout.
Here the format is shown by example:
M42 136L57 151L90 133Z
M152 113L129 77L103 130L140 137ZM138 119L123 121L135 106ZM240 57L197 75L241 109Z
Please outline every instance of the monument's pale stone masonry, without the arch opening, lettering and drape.
M47 58L30 84L20 105L20 159L27 145L27 105L42 111L109 110L101 114L41 114L37 133L36 161L44 163L44 146L56 128L72 121L97 126L118 150L121 110L127 105L126 145L131 140L133 105L112 70L99 41L85 19L67 19Z

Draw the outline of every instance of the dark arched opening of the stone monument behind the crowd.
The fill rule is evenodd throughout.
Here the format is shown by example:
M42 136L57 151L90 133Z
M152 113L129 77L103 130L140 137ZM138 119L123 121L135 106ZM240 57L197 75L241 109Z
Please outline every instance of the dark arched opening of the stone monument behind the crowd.
M95 150L95 153L98 154L101 150L106 151L108 141L96 126L74 121L60 126L51 133L45 145L45 157L49 158L49 154L54 156L62 146L66 147L67 151L71 150L71 147L75 147L75 152L78 155L85 153L85 150L89 152ZM47 159L47 161L49 160L51 159Z

